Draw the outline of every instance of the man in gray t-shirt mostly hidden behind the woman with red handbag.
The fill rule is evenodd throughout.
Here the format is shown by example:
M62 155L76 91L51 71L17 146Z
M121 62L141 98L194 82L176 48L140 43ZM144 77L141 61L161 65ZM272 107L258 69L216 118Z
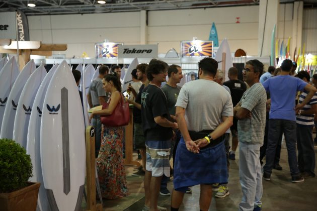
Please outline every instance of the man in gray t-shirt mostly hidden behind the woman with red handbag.
M90 108L102 105L108 101L108 94L105 92L102 84L102 79L106 74L108 74L108 72L108 66L100 66L99 76L94 78L94 80L91 82L87 93L87 101ZM99 115L94 116L94 118L91 120L91 125L96 129L95 156L98 157L101 146L101 121Z

